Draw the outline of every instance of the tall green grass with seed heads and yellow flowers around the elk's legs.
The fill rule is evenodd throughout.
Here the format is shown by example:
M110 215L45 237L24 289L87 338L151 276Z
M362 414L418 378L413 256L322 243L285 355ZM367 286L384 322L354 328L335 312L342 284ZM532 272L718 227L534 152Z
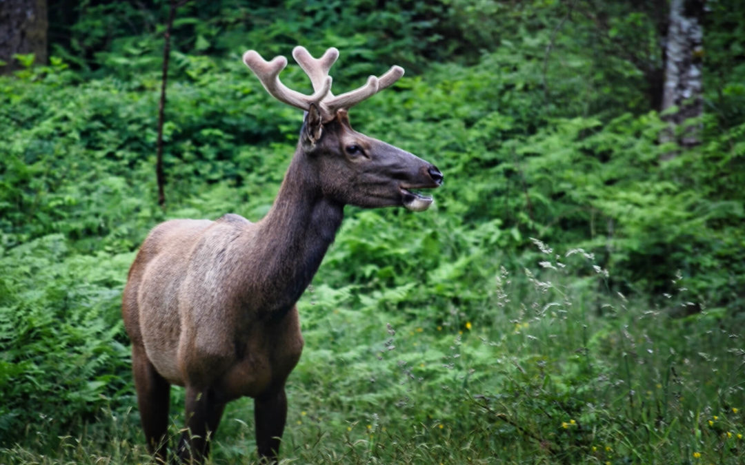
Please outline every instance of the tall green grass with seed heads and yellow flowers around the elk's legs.
M685 283L649 308L603 290L589 254L537 246L530 269L494 276L478 315L408 309L395 292L352 306L372 298L354 286L306 292L282 461L742 463L742 326L717 310L668 316L693 304ZM174 438L182 402L174 389ZM252 419L249 399L229 404L212 463L256 461ZM146 461L134 408L101 408L65 436L42 424L0 450L4 464Z

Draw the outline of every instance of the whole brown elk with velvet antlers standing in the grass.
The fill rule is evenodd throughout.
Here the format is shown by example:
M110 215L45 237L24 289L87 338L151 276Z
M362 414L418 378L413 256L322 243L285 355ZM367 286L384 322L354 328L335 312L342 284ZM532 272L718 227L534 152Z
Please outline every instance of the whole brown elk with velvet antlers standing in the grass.
M254 399L259 457L276 461L285 381L303 346L295 304L335 238L344 205L424 211L433 200L416 190L443 182L433 164L349 125L347 111L395 83L403 68L335 96L329 68L338 55L329 48L316 59L294 48L313 86L306 95L279 80L285 57L267 62L256 51L244 54L270 95L305 112L272 208L259 222L235 214L163 222L130 268L122 315L142 428L158 461L167 460L171 385L186 388L180 461L206 458L223 408L243 396Z

